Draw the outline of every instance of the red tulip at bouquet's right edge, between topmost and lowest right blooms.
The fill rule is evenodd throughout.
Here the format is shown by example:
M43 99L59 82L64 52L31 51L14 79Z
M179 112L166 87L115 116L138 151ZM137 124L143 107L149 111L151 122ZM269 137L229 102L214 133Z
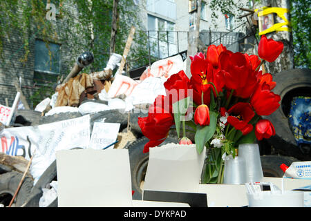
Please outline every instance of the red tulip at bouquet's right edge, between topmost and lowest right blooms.
M280 95L274 94L270 90L269 84L263 82L263 84L258 84L250 99L250 104L258 115L271 115L279 108L280 101Z

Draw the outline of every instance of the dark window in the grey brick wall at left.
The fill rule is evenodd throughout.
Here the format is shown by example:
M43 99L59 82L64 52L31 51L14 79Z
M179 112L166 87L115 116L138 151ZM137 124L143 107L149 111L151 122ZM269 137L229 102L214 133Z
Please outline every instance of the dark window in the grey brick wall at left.
M35 41L35 76L37 83L55 82L60 72L60 45Z

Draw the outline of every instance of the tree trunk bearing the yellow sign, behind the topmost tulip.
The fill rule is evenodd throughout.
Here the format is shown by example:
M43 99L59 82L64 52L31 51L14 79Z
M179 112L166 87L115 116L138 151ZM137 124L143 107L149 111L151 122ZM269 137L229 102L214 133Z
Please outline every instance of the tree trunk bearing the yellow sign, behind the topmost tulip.
M256 3L256 8L261 8L263 6L272 6L278 8L289 8L289 0L261 0L261 3ZM290 13L288 13L288 21L290 21ZM281 23L283 20L275 16L276 20L274 23ZM294 50L292 44L292 32L270 32L266 34L267 38L272 38L275 41L282 41L284 44L284 49L281 55L272 63L265 61L265 71L275 75L282 70L288 70L294 68Z

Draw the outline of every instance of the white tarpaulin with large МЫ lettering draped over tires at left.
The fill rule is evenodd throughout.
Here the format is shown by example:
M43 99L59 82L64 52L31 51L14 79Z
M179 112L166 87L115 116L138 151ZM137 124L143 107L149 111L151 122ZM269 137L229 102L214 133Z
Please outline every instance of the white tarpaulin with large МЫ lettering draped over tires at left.
M91 136L90 116L85 115L39 126L5 128L0 136L0 151L3 153L23 156L26 160L30 160L35 152L30 173L37 182L37 179L55 160L55 151L88 147Z

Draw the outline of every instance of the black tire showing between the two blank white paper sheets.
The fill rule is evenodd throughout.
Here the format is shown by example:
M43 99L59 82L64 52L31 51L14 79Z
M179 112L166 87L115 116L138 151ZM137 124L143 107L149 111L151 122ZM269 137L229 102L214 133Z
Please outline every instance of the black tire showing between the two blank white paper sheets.
M149 160L149 153L142 153L142 151L144 149L144 144L147 144L147 142L149 142L147 137L142 137L126 147L129 149L132 190L135 191L133 194L133 200L142 200L142 189L140 189L140 184L144 181ZM168 137L162 144L160 144L160 146L171 142L177 143L178 140Z

